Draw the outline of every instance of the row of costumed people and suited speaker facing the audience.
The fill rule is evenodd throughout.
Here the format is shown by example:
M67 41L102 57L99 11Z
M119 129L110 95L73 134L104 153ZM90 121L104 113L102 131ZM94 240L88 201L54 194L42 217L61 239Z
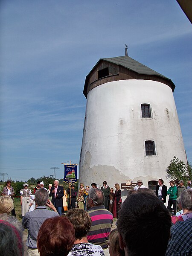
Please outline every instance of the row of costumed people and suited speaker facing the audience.
M11 184L11 181L9 181ZM45 189L49 193L49 200L55 206L58 211L58 214L61 216L65 215L66 212L70 209L79 208L87 211L87 200L88 200L88 192L90 186L85 186L80 183L79 191L77 192L75 189L75 185L72 184L68 187L67 190L64 189L63 186L59 185L59 181L55 180L52 184L49 184L48 189L44 187L43 181L38 181L37 185L33 189L29 189L29 185L27 183L23 184L23 189L20 190L20 204L21 204L21 212L22 216L26 214L26 212L30 212L35 209L35 192L39 189ZM96 183L91 183L91 187L98 189ZM104 206L105 209L109 210L114 218L118 218L119 209L122 204L121 198L121 189L119 184L116 183L114 185L114 189L108 186L107 181L103 181L103 186L101 187L102 192L104 193ZM142 185L142 187L144 187ZM12 188L13 189L13 188ZM14 195L14 189L13 189ZM7 192L4 193L8 195ZM13 199L13 198L12 198Z

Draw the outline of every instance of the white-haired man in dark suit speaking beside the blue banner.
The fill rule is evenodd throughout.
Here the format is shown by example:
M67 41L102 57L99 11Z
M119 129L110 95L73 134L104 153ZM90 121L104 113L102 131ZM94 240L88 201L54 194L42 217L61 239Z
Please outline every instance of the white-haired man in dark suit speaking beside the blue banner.
M55 180L53 183L53 187L51 188L51 191L49 193L49 197L51 197L51 196L52 196L51 202L57 209L58 214L61 216L64 190L63 190L63 186L59 186L58 180Z

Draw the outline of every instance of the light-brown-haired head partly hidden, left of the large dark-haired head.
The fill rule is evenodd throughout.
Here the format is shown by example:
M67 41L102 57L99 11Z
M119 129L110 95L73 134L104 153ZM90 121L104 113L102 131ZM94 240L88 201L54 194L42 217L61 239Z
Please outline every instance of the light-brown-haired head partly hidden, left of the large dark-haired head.
M125 250L122 250L119 246L119 236L118 236L118 230L112 230L109 234L109 244L110 250L112 250L113 255L119 255L119 256L125 256ZM117 254L118 253L118 254Z

